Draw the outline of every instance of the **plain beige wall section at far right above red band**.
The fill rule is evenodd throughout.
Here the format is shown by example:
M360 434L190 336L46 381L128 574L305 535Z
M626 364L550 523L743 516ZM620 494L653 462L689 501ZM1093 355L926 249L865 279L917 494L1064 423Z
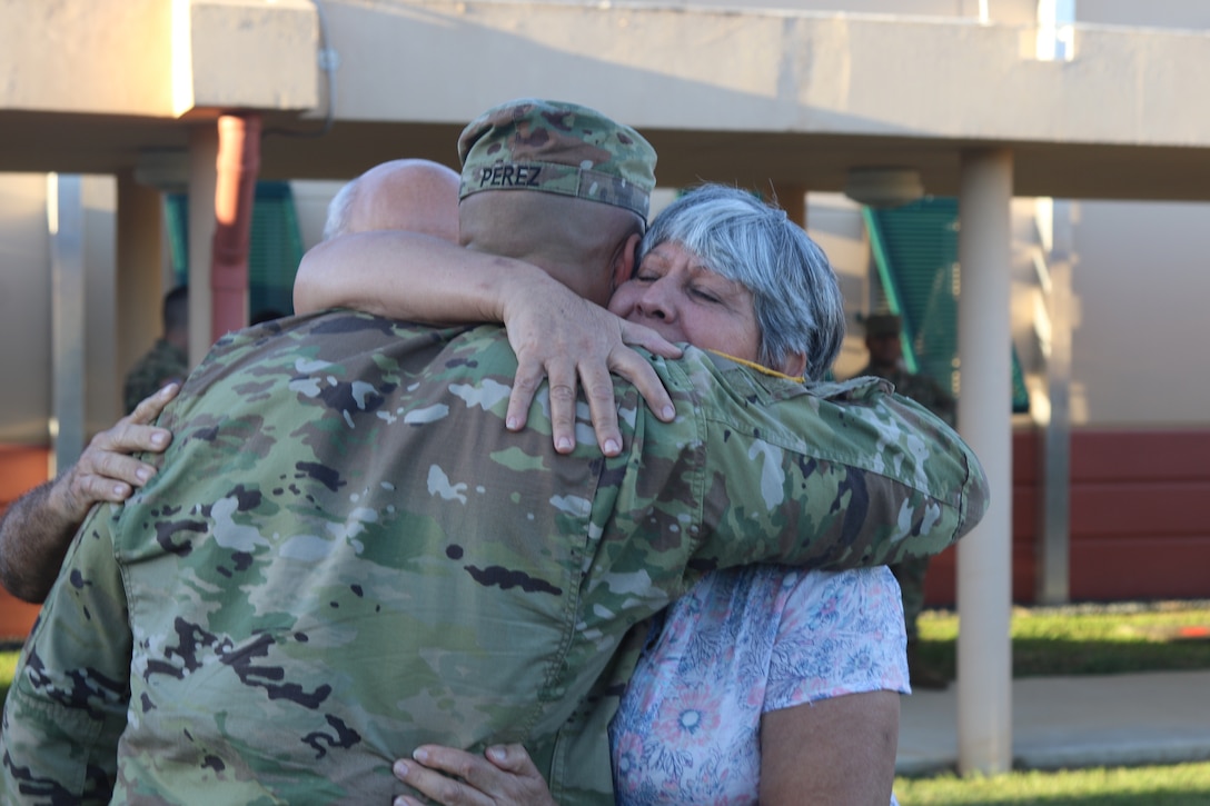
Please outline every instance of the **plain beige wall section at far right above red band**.
M1105 427L1210 424L1210 206L1081 202L1072 415Z

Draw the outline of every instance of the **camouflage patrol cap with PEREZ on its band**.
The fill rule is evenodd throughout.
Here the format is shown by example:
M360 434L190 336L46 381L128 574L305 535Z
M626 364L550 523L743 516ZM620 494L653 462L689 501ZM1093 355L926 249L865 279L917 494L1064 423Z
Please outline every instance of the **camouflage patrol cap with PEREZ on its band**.
M480 190L538 190L623 207L644 220L656 150L594 109L519 98L471 121L457 140L459 200Z

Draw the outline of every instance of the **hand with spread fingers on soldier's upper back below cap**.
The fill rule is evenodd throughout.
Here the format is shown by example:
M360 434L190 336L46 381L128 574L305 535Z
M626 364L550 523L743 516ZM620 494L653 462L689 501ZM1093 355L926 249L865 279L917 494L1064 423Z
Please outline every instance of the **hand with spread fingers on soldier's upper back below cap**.
M548 282L547 282L548 281ZM542 379L549 379L551 430L560 454L576 447L576 385L584 390L597 444L606 456L622 450L610 373L634 384L647 408L664 421L676 416L659 376L635 345L666 358L681 349L641 324L627 322L547 278L541 288L524 288L505 303L508 342L517 353L517 379L508 397L506 425L525 427L526 414Z

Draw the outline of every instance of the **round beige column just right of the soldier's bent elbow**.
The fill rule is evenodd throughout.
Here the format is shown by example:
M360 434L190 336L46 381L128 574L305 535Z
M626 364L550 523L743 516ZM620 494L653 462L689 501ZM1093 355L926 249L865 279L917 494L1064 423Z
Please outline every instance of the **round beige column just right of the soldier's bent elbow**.
M958 428L987 473L991 507L958 543L958 771L1013 764L1013 154L968 150L960 180Z

